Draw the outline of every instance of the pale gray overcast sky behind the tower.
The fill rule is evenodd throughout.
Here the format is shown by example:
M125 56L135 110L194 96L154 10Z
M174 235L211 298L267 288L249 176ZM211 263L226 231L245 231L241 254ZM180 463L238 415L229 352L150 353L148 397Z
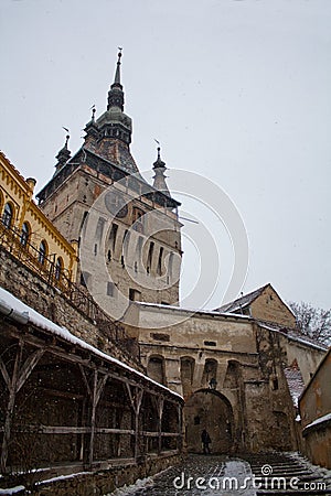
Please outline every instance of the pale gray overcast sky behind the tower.
M249 238L244 291L271 282L286 300L331 306L330 0L1 0L0 42L0 147L38 190L62 126L74 152L92 105L105 110L122 46L139 168L157 138L170 169L227 193ZM209 308L229 277L222 250L225 282ZM185 251L184 289L195 267Z

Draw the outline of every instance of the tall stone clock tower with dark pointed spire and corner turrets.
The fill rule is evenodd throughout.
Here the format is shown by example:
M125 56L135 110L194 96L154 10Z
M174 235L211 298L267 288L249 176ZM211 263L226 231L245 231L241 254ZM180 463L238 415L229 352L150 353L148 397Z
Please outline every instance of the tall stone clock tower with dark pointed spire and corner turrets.
M84 143L73 157L66 138L53 177L38 194L64 237L79 242L76 282L102 295L103 306L121 308L116 317L122 299L178 304L182 256L180 203L161 177L160 150L153 185L130 152L132 121L124 112L120 68L121 51L106 111L97 118L93 108ZM107 277L100 276L102 267Z

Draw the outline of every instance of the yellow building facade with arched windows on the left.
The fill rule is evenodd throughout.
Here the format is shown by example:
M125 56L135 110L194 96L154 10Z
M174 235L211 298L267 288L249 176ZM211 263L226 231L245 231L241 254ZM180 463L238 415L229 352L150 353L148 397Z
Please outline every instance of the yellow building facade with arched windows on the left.
M76 277L77 246L68 242L34 203L26 179L0 152L0 245L50 283L68 287Z

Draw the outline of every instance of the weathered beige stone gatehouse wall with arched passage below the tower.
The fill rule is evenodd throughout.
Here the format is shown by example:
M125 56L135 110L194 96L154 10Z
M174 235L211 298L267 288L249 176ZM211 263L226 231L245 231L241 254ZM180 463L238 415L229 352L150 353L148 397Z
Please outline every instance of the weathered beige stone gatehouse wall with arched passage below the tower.
M185 398L189 451L201 450L204 427L218 452L297 449L296 414L282 371L286 336L242 315L143 303L131 310L142 364Z

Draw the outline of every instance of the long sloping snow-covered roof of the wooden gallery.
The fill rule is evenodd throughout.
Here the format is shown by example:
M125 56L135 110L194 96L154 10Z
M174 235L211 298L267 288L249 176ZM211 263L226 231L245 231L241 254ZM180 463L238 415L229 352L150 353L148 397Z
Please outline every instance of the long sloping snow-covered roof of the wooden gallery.
M108 355L107 353L102 352L100 349L92 346L90 344L86 343L85 341L81 339L79 337L74 336L66 327L62 327L54 322L50 321L49 319L41 315L39 312L33 310L31 306L23 303L21 300L15 298L13 294L11 294L9 291L4 290L3 288L0 288L0 311L2 314L7 315L8 317L12 317L14 320L19 320L21 323L28 323L36 325L40 328L43 328L52 334L56 334L57 336L62 337L63 339L81 346L82 348L88 349L89 352L94 353L95 355L100 356L103 359L107 360L108 363L115 364L122 369L129 370L136 376L139 376L147 380L148 382L152 384L153 386L158 386L159 388L164 389L168 393L171 393L173 396L179 397L180 399L183 399L181 395L178 392L172 391L171 389L167 388L166 386L157 382L156 380L151 379L150 377L146 376L145 374L140 373L139 370L136 370L135 368L128 366L124 362L120 362L119 359L113 357L111 355Z

